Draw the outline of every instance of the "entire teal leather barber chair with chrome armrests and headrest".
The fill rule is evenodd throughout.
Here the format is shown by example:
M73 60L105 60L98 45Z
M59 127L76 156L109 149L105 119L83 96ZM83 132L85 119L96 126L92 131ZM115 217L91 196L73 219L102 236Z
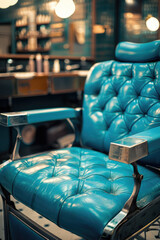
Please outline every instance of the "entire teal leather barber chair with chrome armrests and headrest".
M10 195L88 240L131 239L160 217L160 41L122 42L115 55L90 70L82 110L0 115L18 132L0 167L7 240L20 231L23 239L58 239L18 212ZM75 119L82 123L74 145L20 158L19 126L57 119L74 120L76 131Z

